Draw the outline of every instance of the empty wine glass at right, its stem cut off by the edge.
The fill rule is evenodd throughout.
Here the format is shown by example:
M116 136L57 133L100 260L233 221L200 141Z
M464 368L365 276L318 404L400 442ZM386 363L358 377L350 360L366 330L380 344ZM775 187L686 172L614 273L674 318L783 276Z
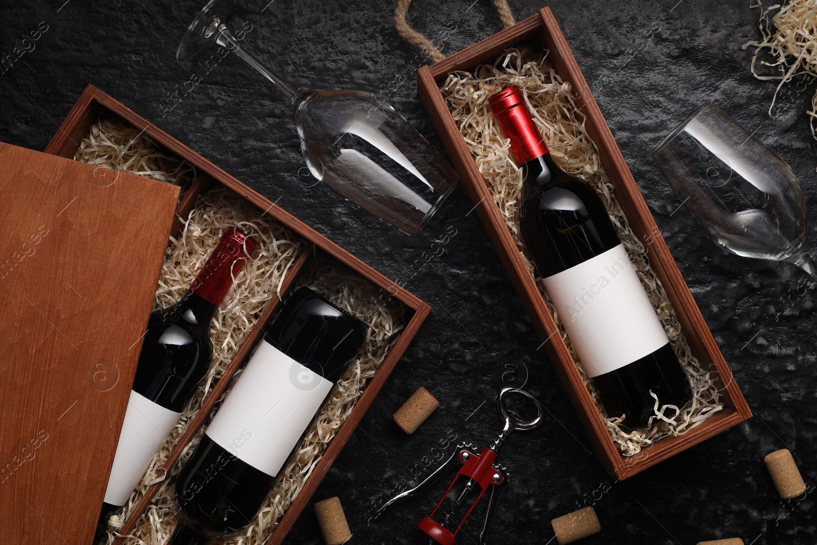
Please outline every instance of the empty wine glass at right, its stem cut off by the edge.
M743 257L792 262L817 280L797 176L717 106L696 109L653 159L718 246Z

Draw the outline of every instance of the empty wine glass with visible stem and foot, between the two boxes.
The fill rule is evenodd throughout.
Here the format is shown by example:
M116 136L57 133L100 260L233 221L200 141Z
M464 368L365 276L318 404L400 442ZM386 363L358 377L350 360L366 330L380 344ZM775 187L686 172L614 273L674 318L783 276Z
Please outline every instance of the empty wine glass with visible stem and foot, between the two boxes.
M346 199L408 235L431 218L457 173L394 108L364 91L304 91L246 51L225 24L234 0L211 0L176 50L188 60L207 43L226 47L274 83L295 109L306 166Z

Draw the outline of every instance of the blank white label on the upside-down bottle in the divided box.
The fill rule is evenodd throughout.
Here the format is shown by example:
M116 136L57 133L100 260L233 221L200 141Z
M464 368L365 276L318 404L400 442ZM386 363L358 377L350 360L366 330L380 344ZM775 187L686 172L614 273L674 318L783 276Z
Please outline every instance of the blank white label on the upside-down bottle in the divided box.
M276 476L332 386L262 339L205 433Z

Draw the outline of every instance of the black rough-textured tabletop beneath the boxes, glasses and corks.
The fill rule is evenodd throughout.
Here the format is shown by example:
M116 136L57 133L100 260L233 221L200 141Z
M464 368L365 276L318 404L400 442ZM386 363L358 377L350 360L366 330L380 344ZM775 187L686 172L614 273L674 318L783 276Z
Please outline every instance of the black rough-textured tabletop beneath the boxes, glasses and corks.
M338 495L352 543L426 543L414 524L435 499L409 501L367 523L372 507L408 485L453 442L493 439L493 396L526 384L547 406L546 424L502 449L512 484L492 543L550 543L550 520L594 505L602 533L582 543L815 543L814 499L780 501L762 458L788 447L817 482L815 284L788 264L721 252L695 226L650 151L703 101L756 131L800 176L817 202L815 141L805 111L815 84L791 87L766 110L776 82L752 78L760 10L748 0L553 2L587 82L708 320L754 418L632 479L616 482L590 449L565 392L462 188L419 235L408 237L299 177L292 111L279 92L233 56L208 74L172 58L199 2L100 0L2 2L0 52L29 31L33 49L0 74L0 141L42 150L83 87L92 83L190 145L434 307L415 342L360 423L314 499ZM677 2L677 3L676 3ZM360 88L387 96L440 147L416 95L426 62L392 26L394 1L262 2L246 14L245 43L286 77L311 88ZM489 0L415 0L410 23L444 52L500 29ZM517 20L542 7L511 0ZM191 75L202 75L196 85ZM170 94L183 96L175 108ZM304 172L304 171L301 171ZM809 220L817 224L817 211ZM419 273L410 265L446 230L457 235ZM814 229L812 229L812 235ZM515 373L504 374L512 364ZM418 386L440 409L413 436L391 413ZM447 445L447 446L446 446ZM437 496L435 492L433 496ZM478 516L460 543L475 543ZM552 540L556 543L555 540ZM55 543L58 539L55 537ZM323 543L310 508L287 543ZM72 544L73 545L73 544ZM157 544L158 545L158 544Z

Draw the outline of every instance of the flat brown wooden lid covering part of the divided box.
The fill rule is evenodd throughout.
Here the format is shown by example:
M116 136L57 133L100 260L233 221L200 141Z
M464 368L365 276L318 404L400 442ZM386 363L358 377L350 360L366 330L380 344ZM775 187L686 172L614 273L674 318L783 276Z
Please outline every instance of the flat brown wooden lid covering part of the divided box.
M0 194L0 543L91 543L179 188L0 143Z

